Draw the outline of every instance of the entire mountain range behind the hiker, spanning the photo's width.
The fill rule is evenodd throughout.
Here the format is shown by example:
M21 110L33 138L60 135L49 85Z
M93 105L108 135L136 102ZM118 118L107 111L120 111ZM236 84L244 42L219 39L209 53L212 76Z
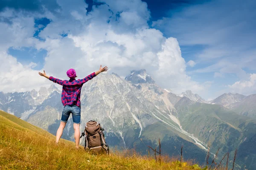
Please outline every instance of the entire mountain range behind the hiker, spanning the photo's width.
M32 111L19 114L27 122L55 135L63 109L61 94L53 86L53 90L47 89L47 93L46 88L42 89L45 93L40 92L40 95L44 100L37 102L38 97L33 95ZM32 94L31 91L25 93ZM39 91L33 93L40 96ZM6 95L0 93L1 103L6 101ZM26 105L27 100L20 102L24 102L20 105ZM15 105L10 108L7 104L2 108L22 108L15 108ZM249 146L256 142L253 137L256 134L255 119L212 104L191 91L177 95L162 89L145 70L131 71L125 79L114 73L99 74L84 84L81 91L81 130L87 121L96 120L105 128L106 140L112 147L135 147L143 154L147 154L145 145L157 147L160 138L163 153L178 156L175 147L184 145L188 153L186 158L196 159L201 164L205 160L208 142L212 144L212 153L221 148L219 157L226 152L233 154L239 148L239 154L248 155L250 159L238 157L237 169L244 165L252 168L254 164L250 162L255 161L256 154ZM73 141L73 133L70 116L63 138Z

